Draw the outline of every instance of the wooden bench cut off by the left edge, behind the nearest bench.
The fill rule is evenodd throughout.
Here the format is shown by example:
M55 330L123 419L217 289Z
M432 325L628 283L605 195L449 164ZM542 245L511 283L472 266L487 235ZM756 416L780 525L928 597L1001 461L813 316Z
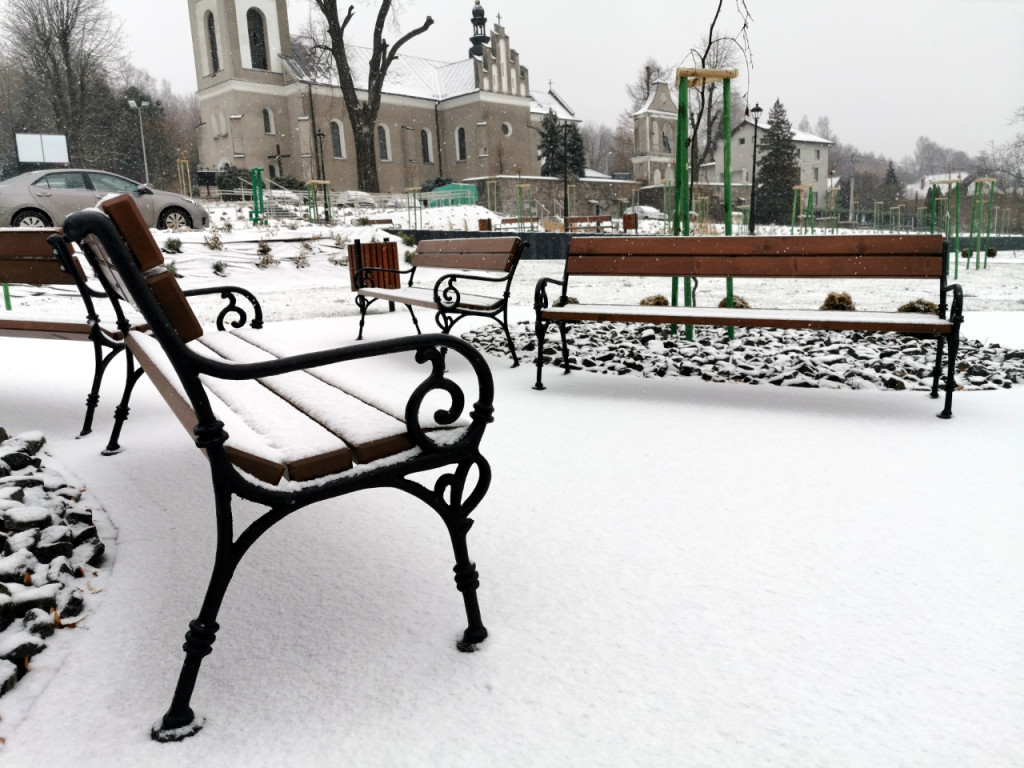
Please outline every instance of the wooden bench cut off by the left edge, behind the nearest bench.
M85 421L81 435L92 431L92 421L99 404L99 389L111 361L124 351L124 327L114 322L101 322L94 298L102 294L91 289L78 258L67 252L58 258L47 238L59 229L14 227L0 229L0 283L3 284L4 308L0 309L0 336L32 339L58 339L92 343L92 387L85 398ZM65 286L73 289L65 306L53 311L23 311L11 308L10 285ZM115 433L111 443L117 445L117 432L127 416L127 401L115 411Z

